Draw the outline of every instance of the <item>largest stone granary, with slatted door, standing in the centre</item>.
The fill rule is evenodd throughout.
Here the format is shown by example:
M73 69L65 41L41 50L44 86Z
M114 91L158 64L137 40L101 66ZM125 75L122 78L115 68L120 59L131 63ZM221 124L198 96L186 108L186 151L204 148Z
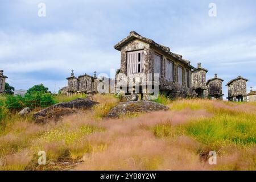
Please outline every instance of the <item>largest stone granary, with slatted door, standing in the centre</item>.
M121 51L121 69L118 72L129 76L129 80L148 73L158 73L160 91L168 92L173 98L192 95L191 73L195 68L190 61L171 52L170 48L144 38L135 31L131 31L114 48ZM134 86L128 85L127 90L134 90ZM148 100L147 90L142 90L141 82L139 86L142 99ZM117 87L115 91L119 92Z

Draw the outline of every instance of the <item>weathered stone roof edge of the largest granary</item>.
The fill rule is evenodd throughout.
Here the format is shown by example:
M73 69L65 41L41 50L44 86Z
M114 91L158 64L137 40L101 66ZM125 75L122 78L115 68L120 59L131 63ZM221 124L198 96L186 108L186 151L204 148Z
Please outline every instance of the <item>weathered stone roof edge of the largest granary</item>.
M129 36L127 36L127 38L121 40L119 43L115 44L114 48L117 49L118 51L121 51L121 48L123 46L125 46L125 44L127 44L127 43L129 43L129 42L131 42L132 40L135 40L135 39L139 39L142 42L148 43L151 46L154 46L154 47L156 47L156 48L158 48L158 49L168 53L168 55L170 55L172 57L175 57L177 60L181 61L182 63L187 64L192 69L196 69L195 67L193 67L190 64L191 63L190 61L183 59L181 55L178 55L176 53L171 52L169 47L162 46L161 44L155 43L154 40L151 40L151 39L148 39L148 38L144 38L143 36L139 35L135 31L131 31Z

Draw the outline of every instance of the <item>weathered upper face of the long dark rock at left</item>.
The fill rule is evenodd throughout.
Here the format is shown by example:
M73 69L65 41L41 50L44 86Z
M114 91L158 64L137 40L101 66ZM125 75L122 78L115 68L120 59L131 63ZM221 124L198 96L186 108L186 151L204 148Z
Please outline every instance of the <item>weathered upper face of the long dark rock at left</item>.
M69 108L69 109L89 109L92 106L98 104L96 101L89 100L88 98L77 98L71 102L61 102L52 106L47 107L46 109L40 110L38 113L33 115L34 119L40 117L47 117L51 111L54 111L59 108Z

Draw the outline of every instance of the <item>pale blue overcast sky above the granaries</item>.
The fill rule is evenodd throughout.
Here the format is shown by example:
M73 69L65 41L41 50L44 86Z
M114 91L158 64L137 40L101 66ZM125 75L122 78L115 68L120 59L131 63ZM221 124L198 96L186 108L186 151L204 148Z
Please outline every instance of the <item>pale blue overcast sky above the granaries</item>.
M46 4L39 17L38 4ZM210 17L209 3L217 5ZM120 67L113 46L137 31L226 83L241 75L256 90L256 1L0 0L0 69L16 89ZM55 86L56 85L56 86Z

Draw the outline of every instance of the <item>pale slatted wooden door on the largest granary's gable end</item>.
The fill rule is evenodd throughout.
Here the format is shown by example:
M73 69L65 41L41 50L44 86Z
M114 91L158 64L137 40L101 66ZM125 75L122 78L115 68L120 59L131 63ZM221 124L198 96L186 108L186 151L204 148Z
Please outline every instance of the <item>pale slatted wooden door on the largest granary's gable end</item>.
M127 52L127 73L143 71L143 51Z

